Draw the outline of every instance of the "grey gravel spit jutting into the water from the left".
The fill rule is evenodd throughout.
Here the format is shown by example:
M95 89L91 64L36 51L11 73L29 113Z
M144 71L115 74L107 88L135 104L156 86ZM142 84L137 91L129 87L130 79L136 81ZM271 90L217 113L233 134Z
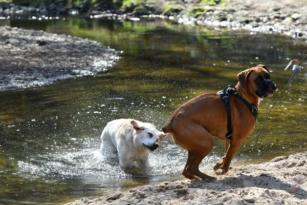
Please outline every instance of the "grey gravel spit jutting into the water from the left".
M93 40L0 27L0 90L94 75L118 59L117 51Z

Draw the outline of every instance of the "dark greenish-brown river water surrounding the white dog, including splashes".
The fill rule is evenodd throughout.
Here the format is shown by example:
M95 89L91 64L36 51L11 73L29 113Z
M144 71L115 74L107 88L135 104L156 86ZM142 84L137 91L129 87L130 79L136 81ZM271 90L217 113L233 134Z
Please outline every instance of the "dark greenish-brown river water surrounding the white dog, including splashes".
M307 53L304 40L286 36L214 31L153 19L11 17L0 22L4 24L91 38L122 54L112 69L95 77L0 92L3 204L61 204L180 179L186 151L174 145L171 137L151 153L151 170L122 170L117 160L106 161L99 153L103 127L113 119L135 118L161 130L187 100L236 84L237 73L257 64L271 68L281 91L292 75L284 67ZM232 166L307 150L306 79L305 70L295 76L275 105L256 149L251 150L277 95L262 100L258 124ZM224 141L216 139L201 170L211 172L223 155Z

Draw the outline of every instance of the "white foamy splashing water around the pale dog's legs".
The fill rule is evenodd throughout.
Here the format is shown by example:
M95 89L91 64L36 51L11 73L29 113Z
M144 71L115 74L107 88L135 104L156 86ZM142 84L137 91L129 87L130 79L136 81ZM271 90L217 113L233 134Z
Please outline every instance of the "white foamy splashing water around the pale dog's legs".
M85 142L84 142L85 143ZM167 149L160 149L150 153L150 169L132 167L121 169L118 157L106 159L100 149L82 149L79 151L66 150L61 153L43 154L32 158L28 162L18 161L19 174L25 177L63 179L80 178L84 183L113 183L132 178L151 178L155 181L167 176L178 177L186 162L186 153L175 145L165 145ZM220 156L211 154L206 157L200 169L211 170ZM113 181L113 182L107 182ZM110 184L110 185L111 185Z

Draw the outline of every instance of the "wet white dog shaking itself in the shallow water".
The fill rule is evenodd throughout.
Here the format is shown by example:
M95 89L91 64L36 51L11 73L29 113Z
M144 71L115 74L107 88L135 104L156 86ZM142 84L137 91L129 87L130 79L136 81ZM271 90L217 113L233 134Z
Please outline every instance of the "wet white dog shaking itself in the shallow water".
M158 142L166 136L150 123L135 119L116 119L108 122L101 134L101 152L105 155L118 152L119 166L130 167L140 161L149 167L150 151L159 147Z

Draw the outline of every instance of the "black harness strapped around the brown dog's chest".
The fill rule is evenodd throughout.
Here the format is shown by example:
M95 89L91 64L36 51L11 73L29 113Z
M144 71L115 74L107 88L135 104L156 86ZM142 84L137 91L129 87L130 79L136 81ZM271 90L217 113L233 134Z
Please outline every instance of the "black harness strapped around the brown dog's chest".
M234 86L226 86L224 90L220 90L217 92L217 94L222 98L225 108L226 108L226 113L227 113L227 129L228 132L226 133L226 138L231 140L232 136L232 128L231 128L231 113L230 113L230 95L233 95L237 97L239 100L241 100L251 111L252 115L255 118L255 121L257 119L257 114L258 114L258 109L254 104L250 104L246 99L243 97L239 96L238 92L236 91Z

